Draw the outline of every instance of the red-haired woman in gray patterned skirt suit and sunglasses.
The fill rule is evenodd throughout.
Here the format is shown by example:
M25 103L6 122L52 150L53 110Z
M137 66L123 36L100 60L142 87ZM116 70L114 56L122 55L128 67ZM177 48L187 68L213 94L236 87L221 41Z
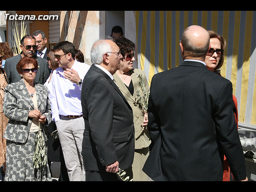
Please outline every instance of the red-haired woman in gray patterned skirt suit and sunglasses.
M5 181L52 180L47 163L47 125L51 122L48 89L35 84L38 63L22 58L16 67L22 79L6 86L3 111L9 118Z

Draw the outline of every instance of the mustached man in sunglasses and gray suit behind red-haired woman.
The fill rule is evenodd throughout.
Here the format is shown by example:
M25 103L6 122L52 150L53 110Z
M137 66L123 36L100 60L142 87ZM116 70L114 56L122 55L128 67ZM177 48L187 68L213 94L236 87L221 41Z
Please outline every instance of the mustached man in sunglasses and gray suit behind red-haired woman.
M20 41L20 49L22 52L16 56L6 59L4 70L6 71L6 76L8 83L14 83L21 80L22 76L16 70L16 65L21 58L30 57L35 58L38 62L38 70L36 72L35 82L39 84L44 84L48 79L50 72L48 68L48 63L45 59L36 56L36 39L34 36L25 35Z

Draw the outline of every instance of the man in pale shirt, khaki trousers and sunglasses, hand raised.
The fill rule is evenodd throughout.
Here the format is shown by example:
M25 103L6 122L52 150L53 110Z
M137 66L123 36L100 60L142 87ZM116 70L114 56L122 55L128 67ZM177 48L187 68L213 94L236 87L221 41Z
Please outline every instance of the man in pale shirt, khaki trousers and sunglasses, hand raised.
M75 47L68 41L59 42L54 50L59 68L53 71L49 86L52 120L56 122L70 181L85 181L81 88L90 65L75 59Z

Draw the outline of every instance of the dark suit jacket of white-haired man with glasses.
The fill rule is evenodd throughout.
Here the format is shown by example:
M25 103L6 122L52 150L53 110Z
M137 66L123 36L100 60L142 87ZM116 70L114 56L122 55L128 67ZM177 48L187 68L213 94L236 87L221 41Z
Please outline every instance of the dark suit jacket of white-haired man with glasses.
M111 78L94 64L84 77L81 103L85 123L84 167L105 171L116 161L129 168L134 157L132 108Z

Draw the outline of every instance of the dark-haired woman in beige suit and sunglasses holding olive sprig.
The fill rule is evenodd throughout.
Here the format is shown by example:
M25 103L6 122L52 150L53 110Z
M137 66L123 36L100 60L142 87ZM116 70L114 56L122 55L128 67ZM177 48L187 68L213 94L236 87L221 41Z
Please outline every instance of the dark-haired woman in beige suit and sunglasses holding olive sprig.
M133 178L133 181L148 181L148 176L142 171L142 168L149 155L151 140L147 129L148 115L146 111L143 110L143 106L145 106L145 108L147 108L147 106L144 105L144 94L139 83L141 84L143 81L142 87L146 94L149 94L150 87L144 71L133 68L133 61L135 60L134 43L124 37L117 38L114 42L120 48L120 52L123 56L120 60L120 69L114 74L114 79L122 94L132 107L135 128L135 152L132 173L127 171L126 174L130 176L130 178Z

